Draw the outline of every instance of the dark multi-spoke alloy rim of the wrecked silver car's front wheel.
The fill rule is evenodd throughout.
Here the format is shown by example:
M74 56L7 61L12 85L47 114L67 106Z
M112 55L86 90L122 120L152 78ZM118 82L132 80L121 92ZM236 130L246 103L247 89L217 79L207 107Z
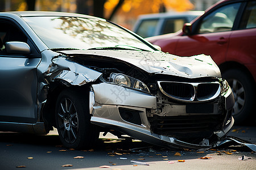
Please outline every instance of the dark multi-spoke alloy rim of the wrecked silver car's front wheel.
M79 119L76 107L70 99L64 98L61 100L57 116L60 135L65 142L75 143L78 136Z

